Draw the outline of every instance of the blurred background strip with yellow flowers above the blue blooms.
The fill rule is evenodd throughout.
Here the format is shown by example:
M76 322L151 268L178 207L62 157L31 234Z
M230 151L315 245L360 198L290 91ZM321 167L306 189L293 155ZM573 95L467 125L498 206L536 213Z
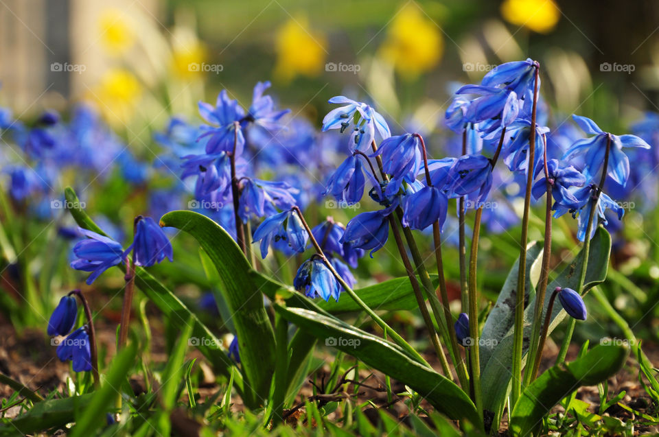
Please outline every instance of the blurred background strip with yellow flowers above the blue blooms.
M554 108L615 126L656 109L658 23L656 1L1 0L0 104L91 102L148 141L198 99L229 88L246 104L272 80L312 120L351 93L432 130L447 84L530 56Z

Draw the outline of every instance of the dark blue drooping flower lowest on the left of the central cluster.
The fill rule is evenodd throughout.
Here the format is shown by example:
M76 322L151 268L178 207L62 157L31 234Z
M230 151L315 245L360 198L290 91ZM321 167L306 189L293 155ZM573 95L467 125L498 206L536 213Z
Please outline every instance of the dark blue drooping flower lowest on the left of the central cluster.
M381 211L367 211L356 215L345 226L341 242L362 250L370 249L373 258L373 252L380 250L389 238L387 217L394 208L392 205Z

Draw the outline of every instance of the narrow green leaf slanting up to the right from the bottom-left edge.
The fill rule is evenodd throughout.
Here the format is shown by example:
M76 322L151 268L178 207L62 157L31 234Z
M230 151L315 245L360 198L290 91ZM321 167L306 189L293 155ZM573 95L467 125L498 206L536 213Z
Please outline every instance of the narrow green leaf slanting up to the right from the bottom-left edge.
M93 393L89 403L76 414L76 426L73 427L71 437L92 435L96 429L106 425L106 414L116 408L114 403L121 392L120 386L126 379L128 370L135 364L136 353L137 347L135 343L131 343L113 358L101 388Z

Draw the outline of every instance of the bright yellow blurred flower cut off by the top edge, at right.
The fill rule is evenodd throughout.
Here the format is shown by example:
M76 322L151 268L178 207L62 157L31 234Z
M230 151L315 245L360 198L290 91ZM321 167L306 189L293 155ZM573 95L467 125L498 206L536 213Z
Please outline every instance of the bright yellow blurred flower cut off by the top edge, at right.
M505 0L501 14L506 21L546 34L558 23L561 11L553 0Z

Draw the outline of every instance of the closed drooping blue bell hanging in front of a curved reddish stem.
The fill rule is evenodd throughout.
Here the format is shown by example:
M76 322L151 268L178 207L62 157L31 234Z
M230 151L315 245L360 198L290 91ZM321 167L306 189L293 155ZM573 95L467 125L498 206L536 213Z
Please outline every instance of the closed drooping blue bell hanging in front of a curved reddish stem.
M439 188L423 187L405 196L404 204L403 226L421 231L437 221L440 228L444 225L448 198Z

